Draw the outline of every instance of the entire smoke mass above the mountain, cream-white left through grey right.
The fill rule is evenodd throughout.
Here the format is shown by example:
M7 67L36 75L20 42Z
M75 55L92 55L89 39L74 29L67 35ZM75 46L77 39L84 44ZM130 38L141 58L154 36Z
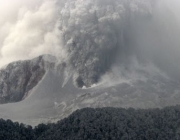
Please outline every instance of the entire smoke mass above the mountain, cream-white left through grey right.
M0 65L49 53L80 87L110 71L155 68L177 80L179 9L178 0L0 0Z

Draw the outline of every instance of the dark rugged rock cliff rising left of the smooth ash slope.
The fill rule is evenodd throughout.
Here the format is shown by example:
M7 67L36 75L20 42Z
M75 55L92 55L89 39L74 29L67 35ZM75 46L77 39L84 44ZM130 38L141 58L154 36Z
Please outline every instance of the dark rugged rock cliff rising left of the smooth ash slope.
M17 61L0 70L0 104L18 102L43 78L48 69L55 65L56 59L50 55L32 60Z

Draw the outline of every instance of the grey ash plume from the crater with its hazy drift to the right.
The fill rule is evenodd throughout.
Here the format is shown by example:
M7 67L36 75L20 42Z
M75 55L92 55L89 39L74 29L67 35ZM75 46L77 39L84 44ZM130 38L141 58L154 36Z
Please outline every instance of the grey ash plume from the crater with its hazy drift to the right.
M147 69L153 74L156 67L177 78L180 31L174 5L178 4L177 0L67 1L60 29L79 85L92 85L113 65L125 77Z

